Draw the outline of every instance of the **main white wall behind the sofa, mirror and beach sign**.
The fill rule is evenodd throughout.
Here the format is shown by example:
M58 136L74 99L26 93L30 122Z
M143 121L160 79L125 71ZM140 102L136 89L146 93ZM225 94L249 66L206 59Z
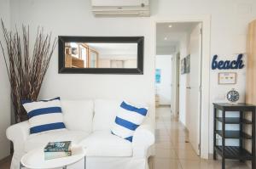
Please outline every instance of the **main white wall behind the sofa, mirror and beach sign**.
M21 3L22 2L22 3ZM151 1L151 18L95 19L90 12L89 0L12 0L12 26L28 23L31 30L43 25L53 35L79 36L144 36L145 59L143 76L121 75L59 75L57 73L57 50L46 75L41 97L60 95L62 98L125 98L148 102L154 107L154 29L152 20L172 18L177 15L210 14L211 58L218 54L226 59L232 54L246 51L247 23L256 18L255 0L159 0ZM69 24L70 23L70 24ZM32 34L31 34L32 35ZM209 63L210 64L210 63ZM235 86L245 93L245 72L237 70ZM210 73L211 105L209 145L212 153L212 102L219 101L231 87L218 86L218 70ZM185 76L181 76L185 78ZM67 82L68 81L68 82ZM182 80L181 80L182 81ZM154 108L153 108L154 109Z

